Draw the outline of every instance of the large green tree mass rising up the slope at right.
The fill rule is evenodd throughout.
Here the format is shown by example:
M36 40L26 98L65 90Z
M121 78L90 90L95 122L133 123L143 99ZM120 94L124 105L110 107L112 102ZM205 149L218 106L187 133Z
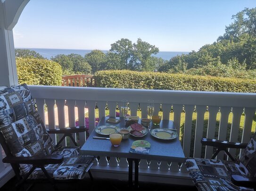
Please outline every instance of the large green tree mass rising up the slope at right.
M245 8L232 19L216 42L173 57L159 71L256 78L256 8Z

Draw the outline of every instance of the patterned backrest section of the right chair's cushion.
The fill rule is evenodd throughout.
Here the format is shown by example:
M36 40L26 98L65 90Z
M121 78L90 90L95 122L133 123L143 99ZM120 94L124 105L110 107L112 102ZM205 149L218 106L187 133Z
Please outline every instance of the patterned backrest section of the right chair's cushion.
M256 176L256 132L242 153L239 166L245 174Z

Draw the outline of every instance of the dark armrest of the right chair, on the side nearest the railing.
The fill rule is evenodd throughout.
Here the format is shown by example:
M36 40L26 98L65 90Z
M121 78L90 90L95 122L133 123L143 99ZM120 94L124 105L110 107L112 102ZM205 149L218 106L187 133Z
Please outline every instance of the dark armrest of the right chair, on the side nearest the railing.
M221 140L211 139L211 138L202 138L201 144L220 147L220 148L237 148L237 149L245 149L246 146L248 145L247 143L234 143L234 142L221 141Z

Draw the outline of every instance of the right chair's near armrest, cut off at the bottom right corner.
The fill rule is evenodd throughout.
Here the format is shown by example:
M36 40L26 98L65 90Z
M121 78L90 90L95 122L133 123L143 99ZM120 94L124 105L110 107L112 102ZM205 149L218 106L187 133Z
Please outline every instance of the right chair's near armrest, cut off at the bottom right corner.
M237 186L256 188L256 177L232 175L231 181Z

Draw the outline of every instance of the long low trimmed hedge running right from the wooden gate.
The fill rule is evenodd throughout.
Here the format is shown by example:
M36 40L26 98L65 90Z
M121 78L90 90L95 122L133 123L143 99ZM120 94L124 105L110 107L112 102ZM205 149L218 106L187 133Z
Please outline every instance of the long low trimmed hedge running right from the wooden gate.
M97 87L188 90L211 92L256 92L256 80L191 76L159 72L105 70L94 75Z

